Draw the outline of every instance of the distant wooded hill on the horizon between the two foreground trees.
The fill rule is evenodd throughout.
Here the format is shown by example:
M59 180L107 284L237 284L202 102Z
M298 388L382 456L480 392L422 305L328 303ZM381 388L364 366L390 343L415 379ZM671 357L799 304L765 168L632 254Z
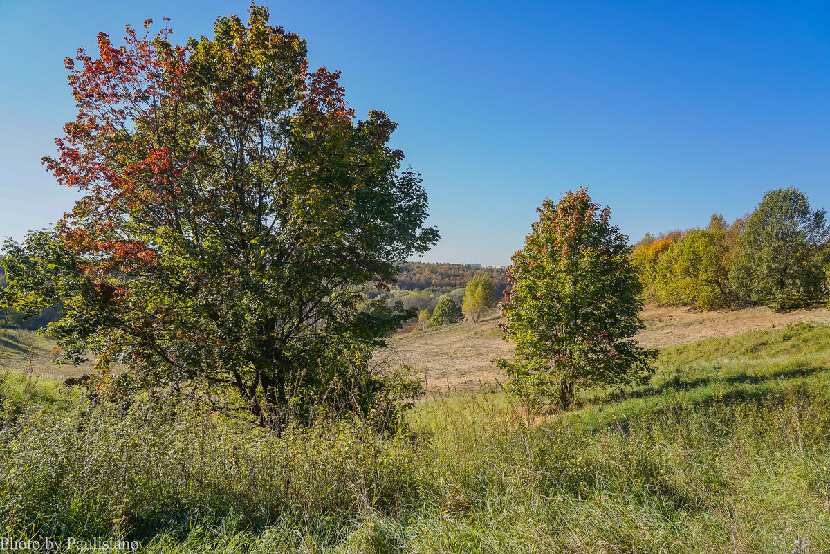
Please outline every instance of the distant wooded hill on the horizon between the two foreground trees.
M404 290L457 289L466 286L476 275L489 275L496 281L496 290L502 294L507 287L506 268L482 267L471 264L436 264L407 262L401 265L398 287Z

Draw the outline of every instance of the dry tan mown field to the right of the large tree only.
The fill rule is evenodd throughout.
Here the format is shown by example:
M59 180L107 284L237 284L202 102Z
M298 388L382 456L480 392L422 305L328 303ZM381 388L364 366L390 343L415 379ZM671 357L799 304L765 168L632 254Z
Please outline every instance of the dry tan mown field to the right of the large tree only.
M830 324L830 311L824 307L782 312L764 307L701 312L649 306L642 315L647 328L639 339L650 348L731 337L789 323ZM425 378L427 391L432 395L497 386L497 381L504 382L506 376L491 360L513 354L512 344L500 338L497 322L496 317L491 317L425 333L398 333L389 341L389 349L380 352L376 359L413 367Z

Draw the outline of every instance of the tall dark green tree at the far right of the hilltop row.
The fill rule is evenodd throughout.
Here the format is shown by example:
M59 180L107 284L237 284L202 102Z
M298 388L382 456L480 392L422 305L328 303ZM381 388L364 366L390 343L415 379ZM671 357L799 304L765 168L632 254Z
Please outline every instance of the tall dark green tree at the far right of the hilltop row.
M730 284L747 301L783 309L815 304L825 298L827 239L825 211L813 211L803 192L764 192L738 241Z

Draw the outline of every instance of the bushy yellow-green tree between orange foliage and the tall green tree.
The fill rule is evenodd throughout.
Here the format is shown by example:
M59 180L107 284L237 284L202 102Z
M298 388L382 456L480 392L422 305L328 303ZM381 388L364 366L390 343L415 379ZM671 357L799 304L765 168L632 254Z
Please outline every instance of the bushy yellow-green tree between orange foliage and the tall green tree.
M720 226L687 231L671 244L655 272L662 304L693 305L699 309L717 309L729 304L726 251Z

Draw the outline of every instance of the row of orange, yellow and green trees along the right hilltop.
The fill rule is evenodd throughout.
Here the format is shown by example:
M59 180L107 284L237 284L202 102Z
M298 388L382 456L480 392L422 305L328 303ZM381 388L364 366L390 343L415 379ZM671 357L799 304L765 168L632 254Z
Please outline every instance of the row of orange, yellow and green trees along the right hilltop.
M778 188L731 223L715 214L706 227L644 236L632 264L652 304L794 309L828 298L828 238L825 211L796 188Z

